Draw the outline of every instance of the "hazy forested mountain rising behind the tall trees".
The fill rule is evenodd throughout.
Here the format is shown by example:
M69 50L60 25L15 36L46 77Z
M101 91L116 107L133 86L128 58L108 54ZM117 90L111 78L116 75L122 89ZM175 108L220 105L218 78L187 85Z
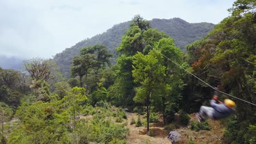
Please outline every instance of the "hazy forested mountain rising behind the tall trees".
M159 31L165 32L172 37L175 44L185 50L185 46L193 43L195 40L201 39L204 35L210 32L214 25L212 23L189 23L179 18L173 19L153 19L149 21L152 28L157 28ZM69 77L71 59L78 55L79 50L85 46L104 44L108 47L109 52L115 56L115 48L121 43L122 35L129 28L130 21L119 23L108 29L107 32L98 34L90 39L85 39L67 48L61 53L57 53L54 60L60 67L62 74ZM114 62L114 59L112 59Z

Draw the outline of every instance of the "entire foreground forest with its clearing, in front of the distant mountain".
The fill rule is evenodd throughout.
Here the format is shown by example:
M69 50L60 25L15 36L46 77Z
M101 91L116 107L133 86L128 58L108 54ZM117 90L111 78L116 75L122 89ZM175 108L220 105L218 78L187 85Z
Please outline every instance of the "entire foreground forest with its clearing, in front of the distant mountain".
M114 65L94 44L71 57L72 78L53 59L27 60L30 75L0 68L1 143L168 143L172 130L177 143L256 143L255 9L237 0L187 52L136 15ZM236 112L198 122L200 106L217 103L212 86Z

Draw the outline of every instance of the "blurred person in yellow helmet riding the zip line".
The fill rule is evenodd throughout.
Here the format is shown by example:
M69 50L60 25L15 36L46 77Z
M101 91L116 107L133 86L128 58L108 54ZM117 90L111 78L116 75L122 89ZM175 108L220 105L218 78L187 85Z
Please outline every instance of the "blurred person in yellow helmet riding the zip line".
M219 92L214 92L210 102L211 107L201 106L200 111L196 113L196 118L200 123L205 121L207 117L217 120L228 117L235 112L233 108L236 105L235 102L230 99L225 99L224 103L222 103L222 101L218 100L218 94Z

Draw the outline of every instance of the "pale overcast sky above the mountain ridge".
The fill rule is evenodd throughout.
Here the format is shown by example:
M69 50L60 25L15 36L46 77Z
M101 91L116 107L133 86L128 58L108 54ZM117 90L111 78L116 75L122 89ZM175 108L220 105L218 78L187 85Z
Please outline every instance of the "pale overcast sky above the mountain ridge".
M234 0L0 0L0 55L52 58L136 14L219 23Z

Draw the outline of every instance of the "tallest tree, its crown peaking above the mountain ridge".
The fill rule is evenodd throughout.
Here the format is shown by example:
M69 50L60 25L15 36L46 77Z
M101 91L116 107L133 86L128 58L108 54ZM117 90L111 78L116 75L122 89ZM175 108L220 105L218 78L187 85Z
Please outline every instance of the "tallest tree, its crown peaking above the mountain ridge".
M117 79L114 85L109 88L109 95L115 104L125 106L134 104L132 99L137 84L133 82L131 73L132 56L136 55L136 52L147 54L159 39L168 37L157 29L151 29L149 22L141 16L133 17L130 29L126 31L121 44L116 49L119 54L117 58L118 69L115 70Z

